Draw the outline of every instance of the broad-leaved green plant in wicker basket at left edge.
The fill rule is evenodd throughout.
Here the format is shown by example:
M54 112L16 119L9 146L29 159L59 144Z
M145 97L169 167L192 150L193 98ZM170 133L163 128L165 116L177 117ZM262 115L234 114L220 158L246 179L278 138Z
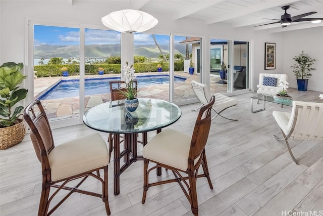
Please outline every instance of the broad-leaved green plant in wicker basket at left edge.
M20 71L23 63L7 62L0 66L0 149L4 150L20 143L26 134L26 127L19 118L23 106L14 105L27 96L28 90L19 88L19 84L27 77Z

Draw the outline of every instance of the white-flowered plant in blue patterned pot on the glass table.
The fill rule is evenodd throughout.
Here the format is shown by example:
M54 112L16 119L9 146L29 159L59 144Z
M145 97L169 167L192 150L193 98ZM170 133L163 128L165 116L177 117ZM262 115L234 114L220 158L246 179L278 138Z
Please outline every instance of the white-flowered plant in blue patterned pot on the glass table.
M133 112L137 109L139 105L139 101L137 97L137 93L139 90L137 90L135 84L134 84L134 74L135 70L133 68L133 65L129 67L128 62L126 62L127 66L124 66L125 71L125 91L120 90L120 94L124 95L126 97L125 100L125 107L128 111Z

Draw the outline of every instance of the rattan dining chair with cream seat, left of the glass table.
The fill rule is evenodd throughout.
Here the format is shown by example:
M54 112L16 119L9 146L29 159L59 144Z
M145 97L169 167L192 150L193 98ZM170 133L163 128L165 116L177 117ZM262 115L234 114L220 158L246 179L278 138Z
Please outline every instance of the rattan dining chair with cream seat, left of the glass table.
M39 100L29 104L23 116L30 127L30 138L41 162L42 186L38 215L50 215L74 192L101 198L106 214L110 215L107 190L109 152L102 137L95 133L55 146L48 118ZM99 174L101 169L104 170L102 178ZM93 174L95 171L96 175ZM78 189L88 177L102 184L102 194ZM75 187L67 186L73 180L80 181L75 182ZM51 187L57 190L50 195ZM70 192L48 211L50 201L62 189Z

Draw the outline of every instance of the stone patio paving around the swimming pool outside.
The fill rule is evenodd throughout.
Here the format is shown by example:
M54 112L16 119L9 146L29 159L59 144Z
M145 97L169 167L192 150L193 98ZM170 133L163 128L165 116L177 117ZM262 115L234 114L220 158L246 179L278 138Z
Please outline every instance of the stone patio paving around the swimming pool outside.
M154 74L169 74L168 72L155 72L149 73L149 75ZM185 100L190 98L195 98L195 94L191 87L191 81L199 81L200 76L198 74L190 75L182 71L175 73L177 76L182 76L187 78L184 82L176 82L174 84L175 89L175 101ZM147 73L136 73L136 75L148 75ZM120 74L105 74L105 75L86 75L85 78L100 78L100 77L115 77L120 76ZM69 77L39 77L34 79L34 99L37 99L40 95L46 92L47 89L53 87L61 79L78 79L79 76L69 76ZM227 92L227 85L217 83L221 80L218 77L211 76L210 91L211 93L216 92ZM169 84L155 84L149 85L147 87L140 88L138 92L139 98L155 98L169 101ZM110 93L98 94L98 95L88 95L85 96L85 110L96 106L101 103L105 103L111 100ZM70 98L59 98L50 100L41 100L41 103L46 111L46 114L50 120L58 120L64 118L71 118L79 116L79 97Z

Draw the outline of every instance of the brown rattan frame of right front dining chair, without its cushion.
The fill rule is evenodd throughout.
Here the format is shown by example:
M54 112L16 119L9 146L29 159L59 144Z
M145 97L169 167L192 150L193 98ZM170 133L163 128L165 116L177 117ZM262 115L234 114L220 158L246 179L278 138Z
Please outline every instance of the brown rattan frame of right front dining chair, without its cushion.
M207 142L207 137L211 125L211 108L214 104L215 98L211 97L210 102L201 107L196 122L191 139L190 151L188 156L188 168L187 170L180 170L178 168L159 163L157 161L144 158L144 185L143 185L143 195L142 195L142 204L145 203L146 194L149 187L167 184L171 182L177 182L181 189L183 190L185 196L191 204L191 209L194 215L198 215L198 202L197 202L197 193L196 193L196 180L197 178L205 177L207 179L210 189L213 189L209 171L207 167L207 160L205 155L205 145ZM203 117L204 116L204 117ZM203 118L202 118L203 117ZM174 144L176 145L176 143ZM198 159L196 162L195 159ZM148 169L149 162L156 163L155 166ZM198 169L202 165L203 174L198 174ZM166 169L172 170L175 178L170 180L164 180L154 183L149 183L149 173L155 168L165 167ZM184 172L187 176L183 176L181 172ZM187 182L188 180L188 182Z

